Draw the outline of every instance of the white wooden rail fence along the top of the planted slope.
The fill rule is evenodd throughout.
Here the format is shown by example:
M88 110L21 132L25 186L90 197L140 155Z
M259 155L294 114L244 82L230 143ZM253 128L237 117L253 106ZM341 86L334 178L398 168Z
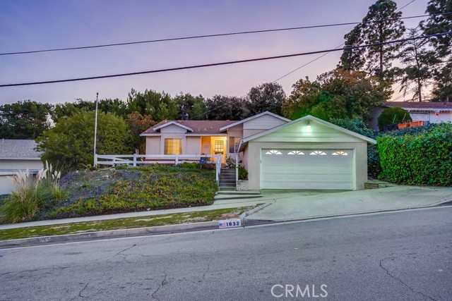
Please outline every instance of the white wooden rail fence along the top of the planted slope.
M203 159L202 159L203 158ZM211 161L210 159L213 159ZM180 164L183 162L215 164L215 180L220 182L221 154L95 154L94 165Z

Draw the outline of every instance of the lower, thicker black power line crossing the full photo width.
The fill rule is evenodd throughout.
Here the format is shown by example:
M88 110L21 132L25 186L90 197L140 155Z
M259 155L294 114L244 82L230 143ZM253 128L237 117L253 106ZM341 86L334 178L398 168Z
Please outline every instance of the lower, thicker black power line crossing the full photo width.
M57 82L77 82L81 80L97 80L101 78L119 78L123 76L130 76L130 75L141 75L141 74L149 74L149 73L162 73L162 72L168 72L168 71L176 71L176 70L187 70L187 69L195 69L195 68L205 68L205 67L213 67L213 66L224 66L224 65L232 65L235 63L249 63L253 61L268 61L273 59L284 59L284 58L290 58L294 56L307 56L310 54L321 54L324 52L332 52L332 51L343 51L343 50L349 50L349 49L357 49L357 48L364 48L364 47L374 47L374 46L381 46L386 44L393 44L393 43L400 43L400 42L406 42L410 41L412 39L427 39L429 37L438 37L441 35L450 35L452 31L448 32L439 32L434 35L424 35L422 37L409 37L405 39L395 39L393 41L388 42L381 42L381 43L374 43L374 44L366 44L366 45L359 45L359 46L353 46L353 47L343 47L343 48L337 48L337 49L328 49L328 50L318 50L318 51L309 51L309 52L302 52L297 54L284 54L280 56L267 56L263 58L257 58L257 59L244 59L239 61L225 61L220 63L206 63L202 65L192 65L192 66L184 66L184 67L176 67L176 68L165 68L165 69L157 69L157 70L148 70L148 71L138 71L138 72L132 72L132 73L119 73L119 74L113 74L113 75L99 75L99 76L90 76L88 78L70 78L66 80L46 80L42 82L22 82L22 83L15 83L15 84L5 84L0 85L0 87L15 87L15 86L26 86L26 85L43 85L43 84L54 84Z

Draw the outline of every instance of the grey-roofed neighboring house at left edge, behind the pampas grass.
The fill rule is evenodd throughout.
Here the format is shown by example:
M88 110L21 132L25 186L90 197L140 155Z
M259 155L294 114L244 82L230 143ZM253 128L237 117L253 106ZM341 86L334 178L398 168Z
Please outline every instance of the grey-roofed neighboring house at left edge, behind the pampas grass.
M13 190L11 177L18 171L37 173L43 167L35 140L0 140L0 195Z

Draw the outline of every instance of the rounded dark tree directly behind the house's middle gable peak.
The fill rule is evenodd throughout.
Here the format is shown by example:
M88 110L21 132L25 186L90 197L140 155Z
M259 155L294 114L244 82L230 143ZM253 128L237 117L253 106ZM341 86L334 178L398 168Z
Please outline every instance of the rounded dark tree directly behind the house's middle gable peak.
M252 87L246 94L246 109L251 116L265 111L280 115L285 98L283 86L277 82L266 82Z

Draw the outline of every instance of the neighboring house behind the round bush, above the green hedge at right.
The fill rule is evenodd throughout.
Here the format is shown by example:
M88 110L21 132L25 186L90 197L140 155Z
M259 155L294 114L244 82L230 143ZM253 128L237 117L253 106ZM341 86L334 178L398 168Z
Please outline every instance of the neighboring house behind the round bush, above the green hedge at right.
M410 112L412 121L441 123L452 121L452 102L386 102L371 111L370 128L379 130L379 116L386 108L402 108Z

